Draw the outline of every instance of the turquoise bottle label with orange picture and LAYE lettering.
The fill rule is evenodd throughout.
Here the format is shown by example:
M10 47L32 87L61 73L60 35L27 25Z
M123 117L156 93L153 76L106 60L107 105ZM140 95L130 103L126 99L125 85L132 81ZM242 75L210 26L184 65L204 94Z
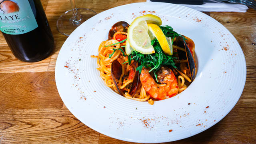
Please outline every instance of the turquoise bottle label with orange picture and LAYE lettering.
M0 30L2 32L24 34L37 27L36 18L28 0L0 0Z

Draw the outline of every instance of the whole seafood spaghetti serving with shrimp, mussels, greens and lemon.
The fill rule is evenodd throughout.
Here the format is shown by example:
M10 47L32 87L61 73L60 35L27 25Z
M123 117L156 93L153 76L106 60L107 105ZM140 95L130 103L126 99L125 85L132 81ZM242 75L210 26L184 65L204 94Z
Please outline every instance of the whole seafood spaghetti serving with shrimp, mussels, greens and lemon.
M116 93L138 101L164 100L184 91L196 75L195 44L155 15L112 26L100 43L100 77Z

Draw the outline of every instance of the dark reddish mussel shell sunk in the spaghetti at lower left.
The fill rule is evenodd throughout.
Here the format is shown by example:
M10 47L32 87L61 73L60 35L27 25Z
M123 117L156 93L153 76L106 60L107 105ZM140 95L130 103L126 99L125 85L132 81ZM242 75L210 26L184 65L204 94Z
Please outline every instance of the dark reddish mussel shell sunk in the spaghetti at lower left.
M116 82L116 80L120 79L121 74L122 74L122 65L118 62L118 60L114 60L111 64L111 77L114 81L116 89L122 95L122 92L118 87L118 83Z

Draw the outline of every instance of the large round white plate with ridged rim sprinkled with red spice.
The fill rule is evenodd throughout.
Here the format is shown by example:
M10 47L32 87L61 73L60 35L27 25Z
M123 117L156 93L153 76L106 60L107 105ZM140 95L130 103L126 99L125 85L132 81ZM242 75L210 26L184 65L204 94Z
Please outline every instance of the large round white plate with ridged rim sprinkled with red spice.
M194 40L198 60L194 82L154 105L126 99L106 87L96 58L91 58L98 55L114 23L130 24L150 13ZM175 4L135 3L101 12L79 26L60 50L55 77L64 104L90 128L130 142L170 142L198 134L230 112L244 88L246 63L234 36L210 16Z

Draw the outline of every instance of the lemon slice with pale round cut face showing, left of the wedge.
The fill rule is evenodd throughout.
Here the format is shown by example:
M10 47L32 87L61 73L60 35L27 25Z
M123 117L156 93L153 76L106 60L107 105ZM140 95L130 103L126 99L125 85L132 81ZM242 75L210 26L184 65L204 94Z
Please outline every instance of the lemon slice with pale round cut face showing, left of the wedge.
M162 24L162 20L158 16L152 14L139 16L135 18L129 26L127 34L127 41L130 46L142 54L152 54L155 52L151 45L151 38L148 35L147 23L157 24L160 26Z

